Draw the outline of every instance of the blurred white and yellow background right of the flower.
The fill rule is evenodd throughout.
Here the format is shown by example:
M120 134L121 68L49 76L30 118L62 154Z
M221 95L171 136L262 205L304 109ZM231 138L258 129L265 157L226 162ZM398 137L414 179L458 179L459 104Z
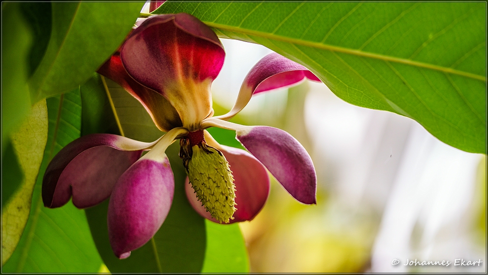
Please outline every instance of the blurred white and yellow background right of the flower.
M222 41L216 111L233 106L249 69L271 52ZM241 224L252 272L486 272L486 156L452 148L409 118L350 105L322 83L260 94L237 119L290 132L318 175L317 206L273 183L264 210Z

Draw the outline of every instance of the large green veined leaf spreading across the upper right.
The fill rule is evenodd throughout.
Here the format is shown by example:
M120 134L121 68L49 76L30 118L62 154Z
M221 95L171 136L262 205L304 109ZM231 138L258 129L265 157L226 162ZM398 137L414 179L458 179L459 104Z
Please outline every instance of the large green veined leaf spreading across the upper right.
M349 103L486 151L485 2L166 1L154 13L178 12L304 64Z

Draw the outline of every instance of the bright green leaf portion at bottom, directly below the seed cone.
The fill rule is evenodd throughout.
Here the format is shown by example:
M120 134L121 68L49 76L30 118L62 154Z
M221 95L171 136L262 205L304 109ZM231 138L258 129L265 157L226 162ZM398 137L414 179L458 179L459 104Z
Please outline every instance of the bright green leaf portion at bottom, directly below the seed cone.
M248 273L249 259L238 224L205 220L207 248L202 273Z

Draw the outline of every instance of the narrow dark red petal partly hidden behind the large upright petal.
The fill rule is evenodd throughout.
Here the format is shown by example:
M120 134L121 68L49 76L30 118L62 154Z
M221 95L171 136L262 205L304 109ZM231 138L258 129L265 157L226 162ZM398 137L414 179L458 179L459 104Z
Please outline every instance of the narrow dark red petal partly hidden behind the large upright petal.
M135 97L149 113L156 126L164 132L181 127L182 121L176 109L158 92L139 84L122 65L120 52L117 51L98 70L101 75L115 81Z

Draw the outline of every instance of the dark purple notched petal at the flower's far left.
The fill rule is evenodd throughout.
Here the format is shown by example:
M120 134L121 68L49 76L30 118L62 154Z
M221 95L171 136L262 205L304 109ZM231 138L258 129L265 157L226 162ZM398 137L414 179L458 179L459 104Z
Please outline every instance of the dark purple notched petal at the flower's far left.
M82 136L66 145L49 163L42 180L42 200L49 208L73 196L78 208L94 206L110 196L117 179L151 143L112 134Z

